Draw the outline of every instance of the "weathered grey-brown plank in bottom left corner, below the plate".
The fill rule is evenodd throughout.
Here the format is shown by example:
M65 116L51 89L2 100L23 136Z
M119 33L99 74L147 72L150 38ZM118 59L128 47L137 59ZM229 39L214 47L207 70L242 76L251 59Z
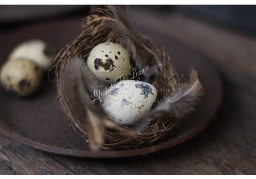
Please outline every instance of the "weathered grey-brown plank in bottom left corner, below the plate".
M0 174L73 174L45 152L0 136Z

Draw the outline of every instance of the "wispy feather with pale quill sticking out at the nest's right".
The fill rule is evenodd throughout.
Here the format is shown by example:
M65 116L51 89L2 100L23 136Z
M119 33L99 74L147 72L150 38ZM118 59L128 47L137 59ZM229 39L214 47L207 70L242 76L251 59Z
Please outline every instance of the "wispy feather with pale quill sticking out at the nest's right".
M192 70L189 80L180 84L176 92L164 97L133 129L140 132L158 118L168 115L170 118L182 118L195 109L199 97L203 95L203 88L198 80L197 71Z

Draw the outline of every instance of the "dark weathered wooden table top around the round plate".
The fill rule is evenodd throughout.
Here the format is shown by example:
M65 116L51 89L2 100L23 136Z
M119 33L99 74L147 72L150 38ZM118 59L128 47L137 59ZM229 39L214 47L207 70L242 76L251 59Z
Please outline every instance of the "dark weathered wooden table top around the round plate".
M131 19L180 41L218 70L224 95L217 119L178 146L119 159L72 158L0 136L0 174L256 174L255 36L179 12L131 8Z

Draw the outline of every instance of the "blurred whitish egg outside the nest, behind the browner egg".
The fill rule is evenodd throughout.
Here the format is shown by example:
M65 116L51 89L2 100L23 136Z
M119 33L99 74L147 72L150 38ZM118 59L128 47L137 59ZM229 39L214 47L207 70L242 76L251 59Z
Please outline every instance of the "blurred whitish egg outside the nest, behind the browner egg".
M26 58L33 61L45 71L53 66L55 51L53 47L40 39L30 39L18 44L8 57L8 61Z

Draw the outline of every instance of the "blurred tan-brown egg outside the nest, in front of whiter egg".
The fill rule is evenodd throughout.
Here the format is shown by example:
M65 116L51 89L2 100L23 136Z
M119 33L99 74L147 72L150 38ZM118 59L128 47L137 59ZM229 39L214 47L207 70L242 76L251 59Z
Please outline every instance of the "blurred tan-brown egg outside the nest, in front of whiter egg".
M43 71L28 59L7 61L1 69L1 83L18 96L30 96L40 87Z

